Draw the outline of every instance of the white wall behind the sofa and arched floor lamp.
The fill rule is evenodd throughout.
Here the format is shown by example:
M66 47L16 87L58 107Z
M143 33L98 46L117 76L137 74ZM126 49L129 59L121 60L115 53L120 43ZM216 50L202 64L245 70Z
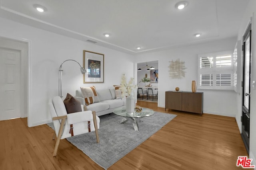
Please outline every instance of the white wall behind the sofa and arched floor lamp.
M0 36L30 41L30 113L29 126L47 123L48 100L58 96L58 68L67 59L83 63L83 50L102 53L104 58L104 83L83 84L78 64L68 61L63 64L62 95L75 94L80 86L95 86L96 89L112 88L120 84L122 74L134 76L134 56L105 47L86 43L56 33L51 33L0 18Z

